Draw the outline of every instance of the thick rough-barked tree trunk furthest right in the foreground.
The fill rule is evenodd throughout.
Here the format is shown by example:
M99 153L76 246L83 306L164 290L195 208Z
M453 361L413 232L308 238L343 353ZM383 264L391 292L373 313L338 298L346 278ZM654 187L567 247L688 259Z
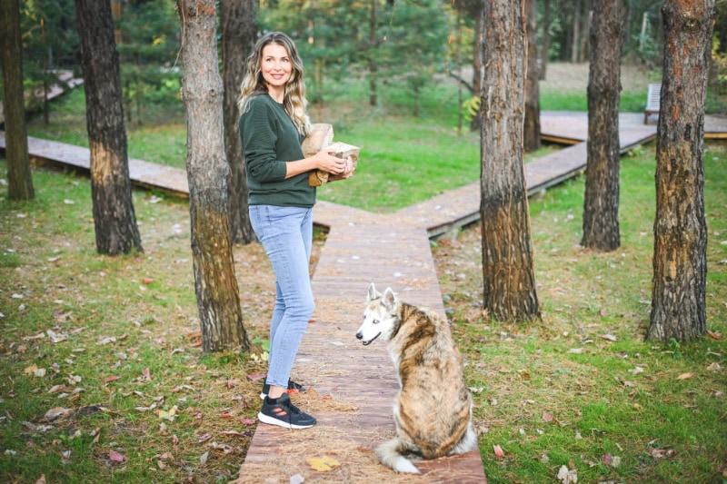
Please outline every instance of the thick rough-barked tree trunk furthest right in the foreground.
M653 292L647 339L688 341L707 330L704 102L714 0L667 0L656 141Z

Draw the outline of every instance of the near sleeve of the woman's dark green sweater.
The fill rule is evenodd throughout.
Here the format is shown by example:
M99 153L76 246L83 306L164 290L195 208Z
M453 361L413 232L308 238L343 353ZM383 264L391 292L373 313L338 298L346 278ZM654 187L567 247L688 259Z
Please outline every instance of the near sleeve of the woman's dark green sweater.
M250 175L259 183L285 179L287 166L277 159L277 120L265 103L253 100L250 109L240 117L240 141L243 144L244 163Z

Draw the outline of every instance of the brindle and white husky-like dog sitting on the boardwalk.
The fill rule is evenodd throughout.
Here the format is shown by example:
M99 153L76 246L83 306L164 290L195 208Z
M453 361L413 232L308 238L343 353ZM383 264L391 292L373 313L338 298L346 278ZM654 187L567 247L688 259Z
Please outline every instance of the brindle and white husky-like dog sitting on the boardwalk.
M449 322L400 301L391 288L380 294L372 282L356 338L368 346L379 337L388 341L400 390L393 403L396 437L376 447L376 458L397 472L419 474L413 462L472 449L473 400Z

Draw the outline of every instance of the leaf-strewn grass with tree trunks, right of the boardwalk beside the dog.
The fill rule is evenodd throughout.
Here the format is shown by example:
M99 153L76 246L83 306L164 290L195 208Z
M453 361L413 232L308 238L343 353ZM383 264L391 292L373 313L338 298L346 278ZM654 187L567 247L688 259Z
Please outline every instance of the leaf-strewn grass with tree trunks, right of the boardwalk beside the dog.
M727 477L726 160L726 145L708 143L707 320L714 338L665 346L643 341L651 302L653 146L622 161L617 251L578 245L583 178L531 201L543 321L504 324L482 314L479 226L435 246L467 379L482 389L475 416L489 482L553 482L563 465L584 482ZM503 459L495 458L493 445L501 446Z

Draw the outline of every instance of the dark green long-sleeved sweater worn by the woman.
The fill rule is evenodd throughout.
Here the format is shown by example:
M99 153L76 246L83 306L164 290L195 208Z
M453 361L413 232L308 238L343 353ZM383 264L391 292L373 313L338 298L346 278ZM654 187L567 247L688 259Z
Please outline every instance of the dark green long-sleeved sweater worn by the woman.
M240 116L240 141L251 205L312 207L315 187L308 173L285 179L285 162L304 158L304 137L295 129L283 104L268 94L260 94Z

